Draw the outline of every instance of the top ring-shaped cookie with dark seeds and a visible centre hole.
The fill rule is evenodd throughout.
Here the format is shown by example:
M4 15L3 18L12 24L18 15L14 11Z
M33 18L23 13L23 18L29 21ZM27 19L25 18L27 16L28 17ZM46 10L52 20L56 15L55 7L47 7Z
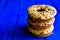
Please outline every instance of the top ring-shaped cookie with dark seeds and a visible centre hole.
M50 19L56 15L56 9L50 5L33 5L28 8L28 15L33 19Z

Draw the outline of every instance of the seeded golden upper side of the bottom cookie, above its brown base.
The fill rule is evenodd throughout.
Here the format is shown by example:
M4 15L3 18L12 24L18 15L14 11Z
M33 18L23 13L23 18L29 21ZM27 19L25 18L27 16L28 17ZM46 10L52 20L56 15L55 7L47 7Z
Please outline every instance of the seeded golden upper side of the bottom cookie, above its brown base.
M46 28L46 29L39 29L39 30L34 30L33 28L31 27L28 27L29 31L33 34L36 34L36 35L44 35L44 34L48 34L50 32L53 31L54 29L54 26L51 25L49 28Z

